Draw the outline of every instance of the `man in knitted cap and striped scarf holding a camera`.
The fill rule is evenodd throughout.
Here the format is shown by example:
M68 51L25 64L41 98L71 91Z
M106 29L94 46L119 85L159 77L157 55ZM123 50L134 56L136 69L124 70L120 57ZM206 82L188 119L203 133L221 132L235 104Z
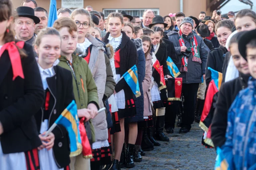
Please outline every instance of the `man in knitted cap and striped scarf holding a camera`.
M171 31L167 35L173 42L179 59L177 67L182 77L182 95L184 107L182 125L179 133L187 133L194 122L195 101L199 83L205 77L205 67L209 48L203 39L192 32L193 20L189 17L182 19L179 32Z

